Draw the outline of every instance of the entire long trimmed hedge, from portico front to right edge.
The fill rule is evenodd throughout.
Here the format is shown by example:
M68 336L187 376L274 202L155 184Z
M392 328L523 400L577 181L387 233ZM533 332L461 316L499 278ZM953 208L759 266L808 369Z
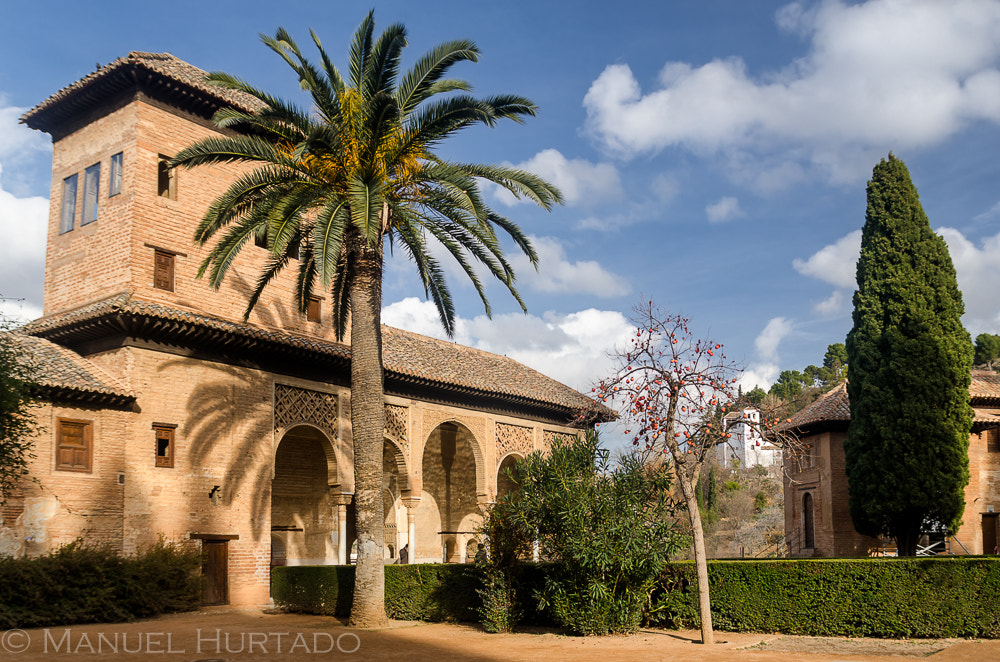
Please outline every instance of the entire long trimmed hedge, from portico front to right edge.
M549 624L534 606L545 566L515 578L525 624ZM661 576L646 622L697 627L693 563ZM710 561L712 619L720 630L866 637L1000 637L1000 559ZM289 611L346 616L352 566L275 568L275 603ZM477 620L477 571L469 565L386 567L390 618Z

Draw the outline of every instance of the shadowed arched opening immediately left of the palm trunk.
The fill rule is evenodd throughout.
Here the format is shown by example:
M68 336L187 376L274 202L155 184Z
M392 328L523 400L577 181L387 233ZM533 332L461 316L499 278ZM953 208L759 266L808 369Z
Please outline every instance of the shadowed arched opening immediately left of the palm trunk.
M299 425L278 442L271 481L272 559L274 539L279 538L287 565L334 563L337 530L330 500L329 478L332 445L326 435L309 425Z

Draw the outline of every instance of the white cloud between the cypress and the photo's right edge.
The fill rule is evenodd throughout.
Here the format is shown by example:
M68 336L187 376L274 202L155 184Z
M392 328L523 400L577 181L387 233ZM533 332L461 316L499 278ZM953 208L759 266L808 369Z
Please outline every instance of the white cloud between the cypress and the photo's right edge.
M958 274L965 302L963 322L973 337L1000 333L1000 233L979 247L954 228L940 228Z

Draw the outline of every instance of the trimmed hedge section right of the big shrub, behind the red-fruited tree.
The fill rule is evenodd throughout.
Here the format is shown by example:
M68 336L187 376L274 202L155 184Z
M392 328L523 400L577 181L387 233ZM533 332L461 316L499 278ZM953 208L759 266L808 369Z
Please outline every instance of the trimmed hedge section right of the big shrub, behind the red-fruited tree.
M649 621L698 623L694 565L668 566ZM1000 559L710 561L722 630L847 637L998 637Z

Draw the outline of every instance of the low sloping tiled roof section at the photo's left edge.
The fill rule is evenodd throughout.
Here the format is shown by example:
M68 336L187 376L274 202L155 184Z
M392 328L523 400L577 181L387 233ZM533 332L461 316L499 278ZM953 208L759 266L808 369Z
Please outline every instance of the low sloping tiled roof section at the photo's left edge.
M2 338L18 345L30 365L31 381L47 389L67 389L124 398L133 397L121 382L76 352L23 332Z

